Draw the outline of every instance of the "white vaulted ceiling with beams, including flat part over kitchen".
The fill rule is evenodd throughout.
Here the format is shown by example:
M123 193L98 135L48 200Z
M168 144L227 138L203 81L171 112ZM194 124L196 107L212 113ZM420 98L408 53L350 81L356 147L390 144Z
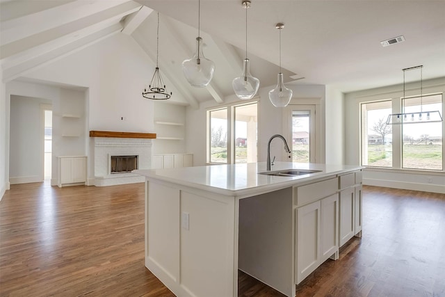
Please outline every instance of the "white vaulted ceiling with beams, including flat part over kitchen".
M201 1L204 55L216 63L216 72L206 89L197 89L188 86L181 72L181 62L195 50L197 8L197 0L0 0L3 81L22 79L40 65L116 33L131 35L155 61L157 10L163 76L192 105L211 98L223 102L233 94L232 79L241 74L245 10L241 0ZM275 24L284 22L282 67L287 83L323 84L347 93L401 83L401 70L416 65L423 65L424 80L445 77L444 13L443 0L252 0L251 72L261 87L276 83ZM406 41L380 45L398 35Z

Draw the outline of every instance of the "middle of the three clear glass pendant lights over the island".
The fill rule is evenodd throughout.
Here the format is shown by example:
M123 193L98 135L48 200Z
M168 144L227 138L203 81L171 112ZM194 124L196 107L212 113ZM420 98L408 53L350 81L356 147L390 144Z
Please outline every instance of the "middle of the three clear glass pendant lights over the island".
M250 64L248 59L248 8L250 1L243 0L241 5L245 8L245 59L243 61L243 73L241 77L236 77L232 81L236 96L241 100L252 99L259 89L259 79L250 74Z

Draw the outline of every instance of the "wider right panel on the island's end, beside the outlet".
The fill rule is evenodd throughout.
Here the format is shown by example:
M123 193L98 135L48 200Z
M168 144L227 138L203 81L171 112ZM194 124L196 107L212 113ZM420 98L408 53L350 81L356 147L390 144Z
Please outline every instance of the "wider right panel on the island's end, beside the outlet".
M204 192L205 193L205 192ZM235 198L181 191L181 286L191 296L237 296Z

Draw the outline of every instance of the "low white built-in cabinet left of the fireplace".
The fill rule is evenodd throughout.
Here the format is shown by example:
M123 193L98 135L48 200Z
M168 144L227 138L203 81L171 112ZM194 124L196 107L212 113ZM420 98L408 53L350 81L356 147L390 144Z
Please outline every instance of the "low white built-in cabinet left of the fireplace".
M58 156L58 186L86 183L86 156Z

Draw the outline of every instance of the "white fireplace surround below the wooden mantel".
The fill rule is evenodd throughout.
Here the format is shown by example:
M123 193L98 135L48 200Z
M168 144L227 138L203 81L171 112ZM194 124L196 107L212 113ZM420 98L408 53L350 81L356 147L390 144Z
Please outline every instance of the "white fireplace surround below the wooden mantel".
M149 169L152 165L152 139L92 137L94 149L95 186L113 186L145 182L140 175L110 173L111 156L138 156L138 168Z

